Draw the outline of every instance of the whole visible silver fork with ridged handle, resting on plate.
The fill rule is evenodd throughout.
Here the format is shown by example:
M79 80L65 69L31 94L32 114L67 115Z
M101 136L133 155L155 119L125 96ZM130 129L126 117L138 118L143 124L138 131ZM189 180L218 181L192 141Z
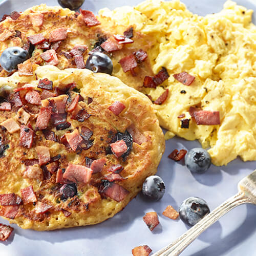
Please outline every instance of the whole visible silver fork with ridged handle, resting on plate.
M191 242L193 242L206 228L214 224L224 214L244 203L256 204L256 170L238 183L238 194L230 197L223 204L215 208L195 226L188 229L181 237L173 243L168 244L152 256L177 256Z

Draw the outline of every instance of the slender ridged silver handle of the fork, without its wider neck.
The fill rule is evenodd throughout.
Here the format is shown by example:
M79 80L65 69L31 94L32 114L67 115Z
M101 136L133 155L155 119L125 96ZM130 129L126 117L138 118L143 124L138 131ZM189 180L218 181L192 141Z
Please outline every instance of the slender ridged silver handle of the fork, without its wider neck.
M205 216L195 226L188 229L181 237L173 243L168 244L161 250L154 253L152 256L177 256L179 255L191 242L193 242L206 228L214 224L228 211L240 204L249 203L248 198L241 191L237 195L229 198L219 207L215 208L210 214Z

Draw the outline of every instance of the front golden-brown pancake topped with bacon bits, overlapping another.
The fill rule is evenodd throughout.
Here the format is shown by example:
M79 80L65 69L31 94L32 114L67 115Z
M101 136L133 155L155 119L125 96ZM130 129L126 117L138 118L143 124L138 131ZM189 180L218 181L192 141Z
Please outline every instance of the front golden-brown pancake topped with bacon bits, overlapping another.
M164 151L151 101L107 74L32 67L0 77L0 215L35 230L113 217Z

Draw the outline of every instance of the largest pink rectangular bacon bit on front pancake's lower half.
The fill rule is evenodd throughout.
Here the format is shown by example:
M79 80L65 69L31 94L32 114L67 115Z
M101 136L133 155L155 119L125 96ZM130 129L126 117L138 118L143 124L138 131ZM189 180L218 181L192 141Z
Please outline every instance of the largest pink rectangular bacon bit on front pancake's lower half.
M69 163L63 178L75 183L89 183L92 177L93 170L79 164Z

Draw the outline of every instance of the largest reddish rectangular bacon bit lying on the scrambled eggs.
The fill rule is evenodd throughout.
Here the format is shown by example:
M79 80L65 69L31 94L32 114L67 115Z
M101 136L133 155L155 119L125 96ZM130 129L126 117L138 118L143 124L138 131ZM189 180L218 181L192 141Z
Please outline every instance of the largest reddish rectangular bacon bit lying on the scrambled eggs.
M219 111L200 110L194 112L194 117L197 125L217 125L221 123Z

